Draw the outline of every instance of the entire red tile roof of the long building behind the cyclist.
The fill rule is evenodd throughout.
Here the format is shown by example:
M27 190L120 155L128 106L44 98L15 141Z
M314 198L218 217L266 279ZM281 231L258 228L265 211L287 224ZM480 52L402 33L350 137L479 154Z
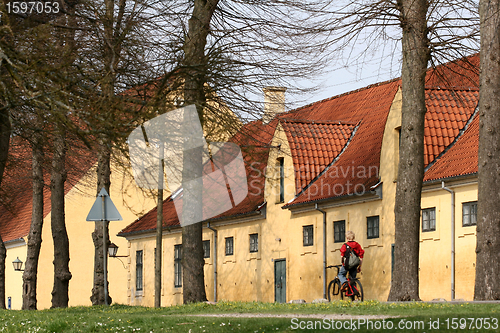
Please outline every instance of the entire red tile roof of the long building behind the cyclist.
M470 120L479 98L478 64L479 56L473 55L428 71L424 160L429 170L425 180L477 172L478 121L474 119L470 123ZM360 194L379 182L383 132L400 85L399 79L371 85L277 116L290 144L299 193L283 208ZM244 128L251 126L262 125L255 122ZM271 139L272 134L261 141L269 144ZM244 144L241 146L245 147ZM255 145L248 145L252 146ZM244 150L247 165L249 156L255 152L255 149ZM263 156L255 161L267 161L268 151L262 152ZM247 170L247 174L249 172L251 170ZM255 177L252 181L263 195L263 177ZM246 198L220 217L255 211L263 203L263 196L253 199ZM178 225L172 200L164 202L164 213L165 226ZM156 209L129 225L121 235L151 231L155 227Z

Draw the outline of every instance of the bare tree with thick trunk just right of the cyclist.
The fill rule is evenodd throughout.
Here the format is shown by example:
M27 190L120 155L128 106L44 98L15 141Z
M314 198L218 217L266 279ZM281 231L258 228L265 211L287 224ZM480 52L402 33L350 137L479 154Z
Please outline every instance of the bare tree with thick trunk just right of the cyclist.
M402 54L401 147L395 203L395 271L389 300L419 299L420 199L424 172L427 67L475 52L476 1L355 0L331 2L320 15L348 61L379 51L391 68ZM333 21L332 18L333 17ZM399 44L401 43L401 44ZM358 49L353 45L357 45ZM399 51L401 50L401 51ZM395 52L396 51L396 52Z

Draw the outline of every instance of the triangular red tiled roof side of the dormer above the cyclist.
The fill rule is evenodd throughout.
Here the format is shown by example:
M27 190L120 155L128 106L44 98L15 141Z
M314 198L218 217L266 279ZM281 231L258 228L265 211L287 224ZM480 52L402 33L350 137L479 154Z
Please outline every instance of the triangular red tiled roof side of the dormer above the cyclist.
M283 118L281 125L290 144L299 193L340 154L357 124Z

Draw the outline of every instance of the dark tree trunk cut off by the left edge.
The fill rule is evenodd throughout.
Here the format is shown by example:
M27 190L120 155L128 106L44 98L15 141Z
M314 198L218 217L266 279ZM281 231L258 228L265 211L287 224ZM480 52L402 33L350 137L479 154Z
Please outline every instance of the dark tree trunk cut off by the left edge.
M9 156L11 124L7 107L0 107L0 184ZM5 309L5 258L7 249L0 234L0 309Z

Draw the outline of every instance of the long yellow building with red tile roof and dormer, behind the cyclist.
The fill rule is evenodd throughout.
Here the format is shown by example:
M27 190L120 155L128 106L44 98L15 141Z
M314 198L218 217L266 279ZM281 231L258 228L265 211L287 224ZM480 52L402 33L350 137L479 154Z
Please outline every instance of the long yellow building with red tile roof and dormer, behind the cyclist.
M477 57L470 60L477 65ZM473 297L478 88L477 76L470 81L476 84L464 86L458 67L462 69L429 71L427 80L423 300ZM254 142L235 142L254 148L244 153L249 189L258 190L203 222L209 300L311 302L325 297L336 274L325 266L340 263L346 230L356 233L366 251L360 275L365 297L387 299L392 270L397 269L392 257L400 84L372 85L243 127ZM256 147L262 154L250 159ZM153 210L119 234L129 241L131 254L128 304L153 305L155 216ZM179 304L180 263L187 254L181 251L171 198L164 203L164 218L162 304Z

